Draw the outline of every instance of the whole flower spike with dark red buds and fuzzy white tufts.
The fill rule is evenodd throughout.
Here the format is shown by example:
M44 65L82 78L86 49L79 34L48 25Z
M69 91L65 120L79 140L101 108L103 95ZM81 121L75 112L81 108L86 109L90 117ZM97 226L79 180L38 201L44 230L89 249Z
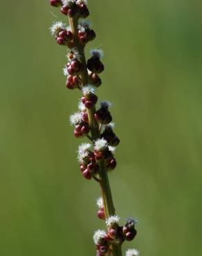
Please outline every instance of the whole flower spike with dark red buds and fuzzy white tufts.
M129 218L125 226L120 226L109 185L108 174L116 168L114 154L120 140L113 131L111 102L101 101L96 109L99 101L96 90L102 84L100 73L104 71L103 51L91 50L91 57L86 61L85 46L96 36L91 23L86 20L89 16L86 0L50 0L50 5L59 7L69 21L69 26L62 21L55 22L50 33L55 35L57 44L68 49L67 63L63 69L66 88L81 92L78 111L70 116L75 138L89 139L89 143L82 143L78 148L80 171L85 179L100 183L101 188L97 216L106 222L107 227L106 230L97 230L93 236L96 255L122 256L122 243L136 237L137 220ZM138 256L138 251L129 249L126 256Z

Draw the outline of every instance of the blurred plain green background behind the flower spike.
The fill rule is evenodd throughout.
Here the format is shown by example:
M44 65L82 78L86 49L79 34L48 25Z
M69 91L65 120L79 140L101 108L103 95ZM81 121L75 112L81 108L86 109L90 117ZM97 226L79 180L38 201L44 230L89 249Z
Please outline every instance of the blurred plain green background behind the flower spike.
M113 102L117 169L110 174L123 222L138 217L141 255L201 255L201 1L89 0ZM82 179L68 116L66 48L48 28L47 1L2 1L0 255L95 255L97 183Z

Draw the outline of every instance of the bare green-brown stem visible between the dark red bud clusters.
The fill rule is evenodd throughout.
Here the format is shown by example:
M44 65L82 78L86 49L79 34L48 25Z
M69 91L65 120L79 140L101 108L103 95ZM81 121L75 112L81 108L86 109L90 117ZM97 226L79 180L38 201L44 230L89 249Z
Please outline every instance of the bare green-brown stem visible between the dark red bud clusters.
M80 74L83 85L89 84L89 74L86 67L86 57L84 54L84 46L80 44L79 38L78 38L78 18L77 17L68 17L69 24L71 26L71 32L73 33L74 42L77 46L77 51L79 52L80 56L80 62L82 62L83 69ZM92 109L87 109L87 113L89 116L89 127L91 129L91 137L93 140L97 140L100 138L100 129L98 122L95 122L94 119L94 113L95 113L95 107ZM115 214L115 208L113 205L113 199L111 195L111 188L109 185L109 177L107 174L107 170L104 164L104 160L100 161L100 188L102 192L102 199L104 203L104 211L106 218L109 218L110 216ZM122 250L121 246L118 244L112 244L111 249L113 251L113 256L122 256Z

